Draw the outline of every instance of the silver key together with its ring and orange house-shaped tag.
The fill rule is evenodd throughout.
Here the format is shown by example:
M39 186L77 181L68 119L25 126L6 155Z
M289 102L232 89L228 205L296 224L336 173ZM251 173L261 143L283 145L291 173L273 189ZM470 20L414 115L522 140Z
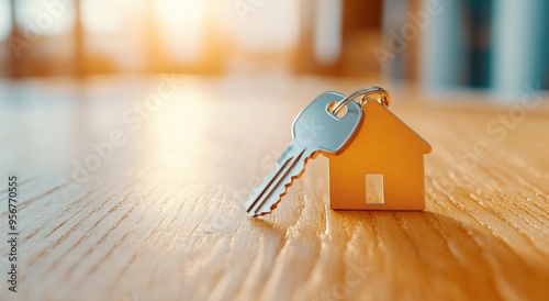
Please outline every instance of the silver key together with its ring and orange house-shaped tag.
M378 101L370 101L374 94ZM360 102L354 101L360 96ZM254 189L246 212L253 218L270 214L307 161L321 153L329 158L332 209L424 210L423 155L430 145L388 105L389 93L379 87L347 97L327 91L314 99L295 118L292 142Z

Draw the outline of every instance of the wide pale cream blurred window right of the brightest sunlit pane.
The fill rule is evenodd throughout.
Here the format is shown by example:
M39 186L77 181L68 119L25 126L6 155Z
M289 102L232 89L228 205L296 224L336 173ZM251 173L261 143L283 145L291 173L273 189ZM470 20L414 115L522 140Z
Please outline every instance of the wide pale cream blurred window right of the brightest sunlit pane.
M301 34L301 1L220 1L211 7L227 74L287 74Z

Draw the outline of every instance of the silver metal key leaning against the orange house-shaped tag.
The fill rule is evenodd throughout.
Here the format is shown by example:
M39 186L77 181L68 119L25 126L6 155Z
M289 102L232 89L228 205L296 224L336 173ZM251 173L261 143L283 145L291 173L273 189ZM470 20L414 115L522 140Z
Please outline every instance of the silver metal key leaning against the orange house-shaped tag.
M328 105L345 96L324 92L313 100L293 122L292 142L277 160L277 168L264 179L246 202L246 211L254 218L271 213L293 180L305 170L310 158L318 152L337 153L355 134L362 119L362 109L351 101L341 119L328 112Z

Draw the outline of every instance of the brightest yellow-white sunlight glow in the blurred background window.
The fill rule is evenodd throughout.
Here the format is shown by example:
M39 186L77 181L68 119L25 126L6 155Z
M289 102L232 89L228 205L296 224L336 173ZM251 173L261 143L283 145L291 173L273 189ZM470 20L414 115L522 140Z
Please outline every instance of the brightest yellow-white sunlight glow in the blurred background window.
M158 0L156 7L170 56L184 62L199 59L203 52L206 1Z

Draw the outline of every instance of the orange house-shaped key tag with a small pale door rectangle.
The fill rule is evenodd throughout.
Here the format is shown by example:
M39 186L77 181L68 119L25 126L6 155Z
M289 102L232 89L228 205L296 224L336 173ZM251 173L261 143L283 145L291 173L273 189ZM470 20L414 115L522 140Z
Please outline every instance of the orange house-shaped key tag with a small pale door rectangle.
M362 104L352 142L329 158L334 210L424 210L430 145L378 101Z

